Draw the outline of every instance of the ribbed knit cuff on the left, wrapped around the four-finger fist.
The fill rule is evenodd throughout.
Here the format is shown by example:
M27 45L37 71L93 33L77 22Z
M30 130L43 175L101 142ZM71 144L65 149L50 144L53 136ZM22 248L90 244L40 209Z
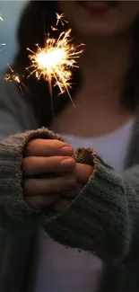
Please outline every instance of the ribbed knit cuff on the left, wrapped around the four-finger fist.
M0 205L10 217L23 221L41 214L39 209L30 208L25 202L22 189L22 155L32 138L62 140L48 128L40 128L7 137L0 142Z

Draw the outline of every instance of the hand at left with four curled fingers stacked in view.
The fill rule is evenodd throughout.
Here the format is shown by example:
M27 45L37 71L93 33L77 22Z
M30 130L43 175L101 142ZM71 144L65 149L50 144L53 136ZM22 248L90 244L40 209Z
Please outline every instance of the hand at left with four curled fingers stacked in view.
M31 207L49 207L59 200L58 193L76 186L73 152L71 146L58 140L34 139L28 143L22 173L25 200Z

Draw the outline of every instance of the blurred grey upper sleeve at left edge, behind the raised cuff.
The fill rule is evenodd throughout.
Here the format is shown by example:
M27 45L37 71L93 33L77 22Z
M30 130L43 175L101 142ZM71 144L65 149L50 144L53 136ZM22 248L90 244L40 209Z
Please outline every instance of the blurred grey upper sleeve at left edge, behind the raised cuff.
M0 82L0 140L38 128L30 99L14 83Z

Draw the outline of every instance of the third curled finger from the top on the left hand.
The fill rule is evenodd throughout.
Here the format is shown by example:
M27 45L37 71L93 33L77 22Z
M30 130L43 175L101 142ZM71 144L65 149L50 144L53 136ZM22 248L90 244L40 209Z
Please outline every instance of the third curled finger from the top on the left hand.
M74 176L66 176L48 180L27 179L24 181L23 189L25 196L39 196L72 190L75 185L76 180Z

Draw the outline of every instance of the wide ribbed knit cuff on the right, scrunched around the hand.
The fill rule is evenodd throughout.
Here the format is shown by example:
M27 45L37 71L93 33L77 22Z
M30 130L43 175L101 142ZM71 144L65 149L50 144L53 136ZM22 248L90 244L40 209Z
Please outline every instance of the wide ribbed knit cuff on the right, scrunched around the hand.
M91 164L91 178L69 208L44 220L44 229L57 242L90 251L103 261L128 252L127 200L120 177L91 149L78 149L76 162Z

